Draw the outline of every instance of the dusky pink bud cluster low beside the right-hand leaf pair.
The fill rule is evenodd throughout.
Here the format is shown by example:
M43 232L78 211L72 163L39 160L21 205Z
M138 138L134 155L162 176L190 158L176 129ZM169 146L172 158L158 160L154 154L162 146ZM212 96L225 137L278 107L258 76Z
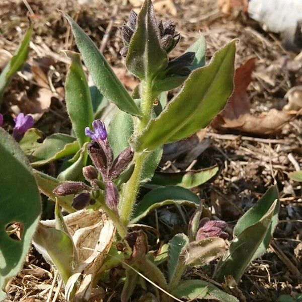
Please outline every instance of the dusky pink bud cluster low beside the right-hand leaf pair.
M227 226L225 221L222 220L210 220L209 218L203 218L200 220L201 228L196 234L196 240L199 241L208 237L220 237L222 239L228 239L229 234L223 232Z

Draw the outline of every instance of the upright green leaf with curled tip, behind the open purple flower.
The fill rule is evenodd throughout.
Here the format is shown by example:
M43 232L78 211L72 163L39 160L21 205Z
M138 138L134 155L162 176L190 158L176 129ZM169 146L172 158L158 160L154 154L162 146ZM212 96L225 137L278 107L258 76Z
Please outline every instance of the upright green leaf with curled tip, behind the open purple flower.
M79 53L65 50L71 60L65 81L65 100L72 129L78 138L80 146L90 141L85 135L85 128L91 127L94 113L86 74L83 70Z

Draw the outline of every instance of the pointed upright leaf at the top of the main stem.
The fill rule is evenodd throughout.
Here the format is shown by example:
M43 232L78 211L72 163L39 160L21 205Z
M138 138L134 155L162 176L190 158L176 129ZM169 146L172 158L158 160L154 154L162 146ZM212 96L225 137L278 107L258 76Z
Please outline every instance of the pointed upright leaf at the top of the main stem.
M151 0L145 0L137 16L137 27L129 44L126 66L141 80L152 80L166 67L168 57L160 44L160 32Z

